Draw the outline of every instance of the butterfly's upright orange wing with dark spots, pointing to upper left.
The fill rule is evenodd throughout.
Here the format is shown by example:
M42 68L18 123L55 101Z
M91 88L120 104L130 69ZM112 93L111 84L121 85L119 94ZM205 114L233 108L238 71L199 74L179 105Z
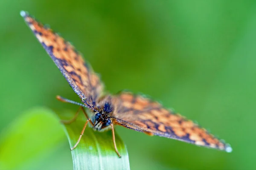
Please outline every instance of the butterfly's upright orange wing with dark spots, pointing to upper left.
M82 102L94 110L104 86L93 69L69 42L28 13L21 11L20 14Z

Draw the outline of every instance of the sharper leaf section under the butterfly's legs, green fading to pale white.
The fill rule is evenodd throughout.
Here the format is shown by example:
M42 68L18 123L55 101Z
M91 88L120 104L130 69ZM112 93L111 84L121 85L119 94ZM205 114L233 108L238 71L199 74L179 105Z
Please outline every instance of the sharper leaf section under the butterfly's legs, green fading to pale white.
M58 113L60 119L66 120L73 118L74 115L74 111ZM76 144L85 122L85 116L81 113L75 122L64 124L70 147ZM125 144L116 133L115 137L122 158L119 158L115 152L111 130L94 131L88 123L78 146L71 151L74 170L129 170Z

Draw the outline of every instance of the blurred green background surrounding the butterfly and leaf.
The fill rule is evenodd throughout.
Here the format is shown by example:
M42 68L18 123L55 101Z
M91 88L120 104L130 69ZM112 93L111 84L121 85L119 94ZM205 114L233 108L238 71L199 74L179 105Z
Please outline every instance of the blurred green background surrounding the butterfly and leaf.
M131 169L256 169L256 1L1 0L1 134L35 106L77 110L58 102L56 95L79 101L20 10L71 41L111 93L148 94L233 147L225 153L117 127ZM42 121L35 127L38 134L30 137L37 141L43 133L47 148L46 127ZM54 147L23 166L72 169L69 145L60 132ZM14 164L16 157L23 155L13 155Z

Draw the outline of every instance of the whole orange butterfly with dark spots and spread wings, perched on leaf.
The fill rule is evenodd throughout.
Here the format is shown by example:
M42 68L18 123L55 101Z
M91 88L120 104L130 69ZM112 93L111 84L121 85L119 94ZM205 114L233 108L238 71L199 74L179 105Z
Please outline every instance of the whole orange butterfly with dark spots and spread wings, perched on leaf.
M79 109L87 117L81 135L71 150L79 144L89 122L95 130L112 130L113 145L119 157L121 156L116 148L114 125L127 127L150 136L163 136L198 146L232 151L229 144L219 140L184 116L164 108L158 102L131 92L103 95L103 83L73 45L50 28L43 26L27 12L21 11L20 15L81 99L82 103L78 103L57 96L57 99L62 102L79 105ZM89 108L93 113L91 118L84 108ZM76 116L70 122L75 120Z

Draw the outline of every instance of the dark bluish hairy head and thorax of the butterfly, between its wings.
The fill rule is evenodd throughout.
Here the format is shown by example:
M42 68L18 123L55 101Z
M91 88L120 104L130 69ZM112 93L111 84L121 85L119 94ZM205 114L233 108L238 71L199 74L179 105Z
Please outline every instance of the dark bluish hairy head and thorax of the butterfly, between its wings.
M108 127L112 123L111 115L113 107L109 103L105 103L101 109L95 114L94 128L98 131Z

